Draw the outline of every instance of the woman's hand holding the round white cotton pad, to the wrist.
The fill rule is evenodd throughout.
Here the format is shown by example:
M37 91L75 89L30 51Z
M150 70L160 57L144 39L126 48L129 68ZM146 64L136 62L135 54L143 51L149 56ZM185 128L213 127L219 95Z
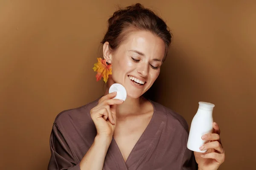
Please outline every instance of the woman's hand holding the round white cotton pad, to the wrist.
M116 92L102 96L98 105L90 110L98 136L113 136L116 128L116 106L123 103L122 100L113 99L115 96Z

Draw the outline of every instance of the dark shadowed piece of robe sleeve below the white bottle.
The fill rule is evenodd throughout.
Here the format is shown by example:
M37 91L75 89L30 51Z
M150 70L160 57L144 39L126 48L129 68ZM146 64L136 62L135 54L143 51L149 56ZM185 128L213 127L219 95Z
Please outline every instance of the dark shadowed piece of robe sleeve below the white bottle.
M186 148L183 156L181 170L198 170L198 164L195 161L194 152L188 148Z

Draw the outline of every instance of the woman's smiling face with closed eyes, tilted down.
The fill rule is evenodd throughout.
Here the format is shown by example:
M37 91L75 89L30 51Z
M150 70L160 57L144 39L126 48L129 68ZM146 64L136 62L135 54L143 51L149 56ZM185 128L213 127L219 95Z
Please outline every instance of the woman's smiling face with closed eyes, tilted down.
M105 54L112 64L113 81L125 87L127 96L138 98L157 79L165 54L165 44L149 31L133 31L114 53Z

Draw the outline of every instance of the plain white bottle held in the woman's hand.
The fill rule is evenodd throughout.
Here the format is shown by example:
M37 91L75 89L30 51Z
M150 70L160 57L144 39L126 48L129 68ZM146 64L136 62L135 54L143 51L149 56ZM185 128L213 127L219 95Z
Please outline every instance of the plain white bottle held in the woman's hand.
M208 102L199 102L198 111L195 114L189 131L189 139L187 148L195 152L204 153L206 150L200 150L203 144L209 142L204 141L201 137L206 133L212 133L212 111L215 105Z

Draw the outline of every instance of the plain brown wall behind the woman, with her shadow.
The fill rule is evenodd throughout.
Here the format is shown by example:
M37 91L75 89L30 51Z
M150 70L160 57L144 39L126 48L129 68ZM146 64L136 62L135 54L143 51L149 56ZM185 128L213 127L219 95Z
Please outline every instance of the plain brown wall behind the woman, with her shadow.
M92 67L107 19L136 2L174 34L151 96L189 124L199 101L214 103L220 169L255 167L255 1L0 0L0 169L47 169L55 116L102 94Z

